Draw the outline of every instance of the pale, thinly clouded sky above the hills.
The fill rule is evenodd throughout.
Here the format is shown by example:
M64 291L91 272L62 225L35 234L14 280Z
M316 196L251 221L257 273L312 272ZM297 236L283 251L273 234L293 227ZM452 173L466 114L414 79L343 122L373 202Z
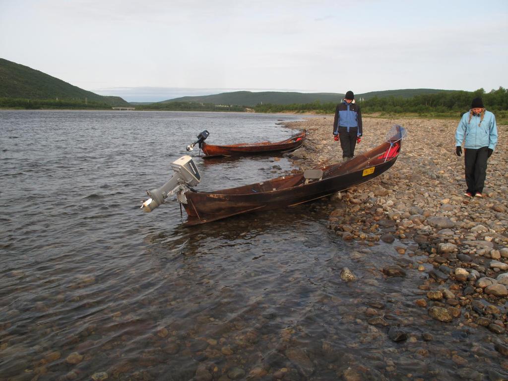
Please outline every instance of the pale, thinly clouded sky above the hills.
M129 102L508 87L508 1L0 0L0 58Z

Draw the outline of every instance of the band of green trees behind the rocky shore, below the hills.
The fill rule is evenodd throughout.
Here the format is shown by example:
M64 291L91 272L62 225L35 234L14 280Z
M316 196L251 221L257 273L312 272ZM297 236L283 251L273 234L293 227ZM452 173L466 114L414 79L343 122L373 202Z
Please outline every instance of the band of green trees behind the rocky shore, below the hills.
M435 94L420 94L411 98L402 97L373 97L360 101L362 113L416 113L420 115L450 115L463 113L471 107L471 100L482 97L485 107L502 115L508 111L508 90L499 87L497 90L485 92L483 88L473 92L447 91ZM319 101L308 104L271 105L258 104L254 107L256 112L316 112L331 114L335 112L337 103L321 103Z

